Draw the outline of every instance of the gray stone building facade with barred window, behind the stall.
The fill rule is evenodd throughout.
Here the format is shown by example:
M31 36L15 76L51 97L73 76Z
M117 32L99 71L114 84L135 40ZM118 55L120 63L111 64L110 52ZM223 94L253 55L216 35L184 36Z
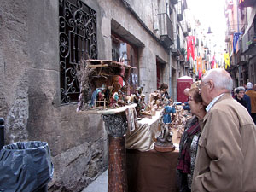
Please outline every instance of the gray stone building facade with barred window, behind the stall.
M137 67L130 83L147 95L163 82L176 98L187 35L185 0L1 0L0 116L5 143L49 143L49 191L80 191L108 164L102 118L76 113L81 59ZM177 38L178 37L178 38Z

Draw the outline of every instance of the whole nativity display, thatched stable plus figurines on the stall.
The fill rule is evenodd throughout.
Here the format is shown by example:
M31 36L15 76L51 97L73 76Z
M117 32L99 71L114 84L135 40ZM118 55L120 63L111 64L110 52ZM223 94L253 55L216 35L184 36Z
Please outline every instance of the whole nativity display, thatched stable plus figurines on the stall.
M160 152L174 150L172 129L177 129L179 135L183 133L188 111L183 108L183 103L173 102L172 96L168 96L167 84L161 84L159 90L150 93L148 102L143 86L131 92L129 79L134 68L118 61L81 61L77 68L80 87L77 112L108 111L133 104L139 119L152 119L160 111L161 131L155 149Z

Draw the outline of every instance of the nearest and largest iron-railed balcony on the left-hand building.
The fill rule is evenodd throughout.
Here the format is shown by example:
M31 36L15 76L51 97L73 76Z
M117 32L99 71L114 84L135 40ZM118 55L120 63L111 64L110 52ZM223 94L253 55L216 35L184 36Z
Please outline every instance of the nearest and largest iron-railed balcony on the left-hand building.
M166 13L159 14L160 40L169 48L174 44L172 20Z

